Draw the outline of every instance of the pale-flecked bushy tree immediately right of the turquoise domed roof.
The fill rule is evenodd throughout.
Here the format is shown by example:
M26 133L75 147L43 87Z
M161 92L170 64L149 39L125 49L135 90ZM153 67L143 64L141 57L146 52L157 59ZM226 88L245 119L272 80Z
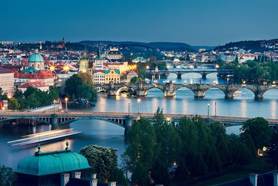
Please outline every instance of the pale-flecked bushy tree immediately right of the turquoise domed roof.
M92 166L92 171L97 173L99 180L103 181L111 178L113 170L117 166L116 151L115 148L90 145L82 148L79 153L87 158Z

